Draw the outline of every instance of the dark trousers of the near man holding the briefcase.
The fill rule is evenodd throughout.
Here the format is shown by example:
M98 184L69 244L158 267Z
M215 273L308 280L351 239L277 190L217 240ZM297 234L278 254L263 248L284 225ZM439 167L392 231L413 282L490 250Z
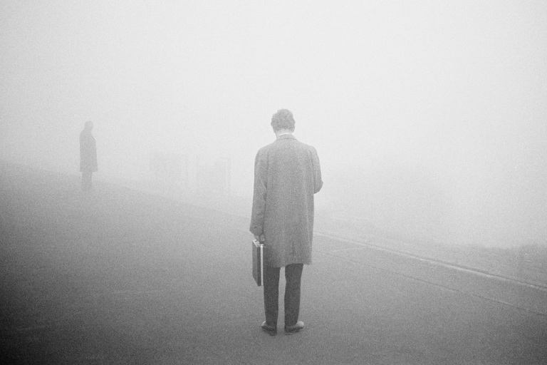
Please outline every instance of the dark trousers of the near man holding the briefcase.
M285 326L294 326L300 312L300 279L304 264L288 264L285 267ZM279 272L281 267L264 269L264 312L266 324L277 327L279 302Z

